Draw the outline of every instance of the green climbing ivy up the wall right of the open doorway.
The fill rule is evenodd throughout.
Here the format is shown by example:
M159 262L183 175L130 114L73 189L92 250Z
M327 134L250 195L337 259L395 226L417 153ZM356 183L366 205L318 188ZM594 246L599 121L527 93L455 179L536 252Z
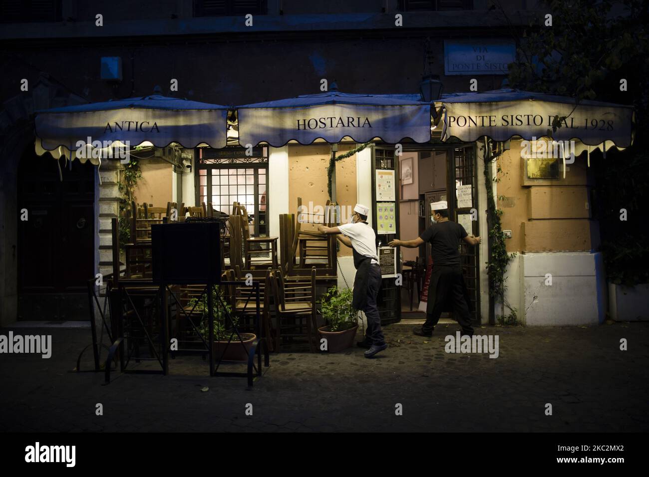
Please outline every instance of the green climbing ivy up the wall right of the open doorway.
M487 147L487 149L489 149ZM502 225L500 223L500 217L503 214L501 209L496 208L496 201L493 195L493 186L491 182L498 182L500 179L497 177L498 173L502 172L502 169L498 167L496 171L496 177L491 178L489 173L491 169L491 162L495 158L491 155L490 151L485 151L484 157L484 177L485 177L485 188L487 189L487 228L489 229L489 243L490 253L489 253L489 262L487 262L487 275L489 276L489 296L498 300L501 304L502 315L498 317L498 321L501 323L511 324L517 321L516 311L514 308L509 306L509 303L505 299L505 272L507 271L507 265L516 256L516 252L508 254L507 247L505 244L505 234L502 232ZM510 314L506 317L504 316L504 307L509 308Z

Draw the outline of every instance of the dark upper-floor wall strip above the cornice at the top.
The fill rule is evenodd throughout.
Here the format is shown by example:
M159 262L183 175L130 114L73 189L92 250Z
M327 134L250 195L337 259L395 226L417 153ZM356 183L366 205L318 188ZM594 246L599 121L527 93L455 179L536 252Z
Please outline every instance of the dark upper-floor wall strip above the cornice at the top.
M539 0L22 0L0 3L0 38L497 28L528 24ZM506 12L506 15L503 14ZM101 14L103 26L95 25ZM245 24L251 14L252 25ZM402 14L402 27L395 15Z

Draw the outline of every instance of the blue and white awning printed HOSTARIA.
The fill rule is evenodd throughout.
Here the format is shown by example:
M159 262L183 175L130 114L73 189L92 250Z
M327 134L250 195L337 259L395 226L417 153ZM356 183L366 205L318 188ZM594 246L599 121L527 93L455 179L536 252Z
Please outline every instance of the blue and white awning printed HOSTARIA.
M330 91L266 103L236 106L239 144L289 141L311 144L317 139L358 143L380 138L398 143L405 138L430 141L430 104L419 95L370 95Z

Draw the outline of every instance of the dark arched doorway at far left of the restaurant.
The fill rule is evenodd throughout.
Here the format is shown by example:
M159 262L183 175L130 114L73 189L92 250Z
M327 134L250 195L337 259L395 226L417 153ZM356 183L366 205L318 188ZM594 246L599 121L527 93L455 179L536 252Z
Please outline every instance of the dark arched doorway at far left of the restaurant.
M60 169L58 167L60 165ZM23 155L18 169L18 318L88 319L93 276L95 170L51 155ZM27 220L25 217L27 211Z

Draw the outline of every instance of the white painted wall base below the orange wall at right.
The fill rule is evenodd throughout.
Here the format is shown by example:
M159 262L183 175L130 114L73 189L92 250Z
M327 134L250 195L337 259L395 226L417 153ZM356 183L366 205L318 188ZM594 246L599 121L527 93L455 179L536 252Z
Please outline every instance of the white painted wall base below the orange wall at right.
M520 255L524 294L519 316L526 326L602 323L606 293L600 285L601 260L600 253L588 252Z

